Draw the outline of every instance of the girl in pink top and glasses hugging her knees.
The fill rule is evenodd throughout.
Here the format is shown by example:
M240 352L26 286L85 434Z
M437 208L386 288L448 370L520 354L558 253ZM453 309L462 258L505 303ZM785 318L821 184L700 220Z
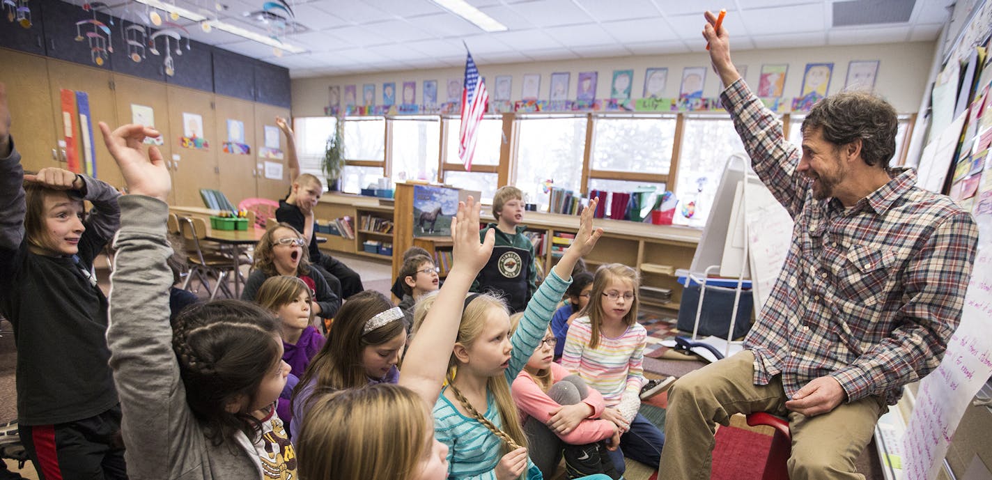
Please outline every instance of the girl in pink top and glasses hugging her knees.
M620 430L610 420L598 420L605 407L599 391L554 362L556 343L549 328L511 389L531 460L545 478L554 476L562 452L568 478L592 473L620 478L607 454L619 443Z

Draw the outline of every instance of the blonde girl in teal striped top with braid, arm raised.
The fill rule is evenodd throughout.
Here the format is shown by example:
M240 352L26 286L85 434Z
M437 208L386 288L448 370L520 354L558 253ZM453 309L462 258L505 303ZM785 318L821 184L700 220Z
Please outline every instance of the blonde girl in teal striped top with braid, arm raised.
M510 396L510 382L541 343L572 267L602 235L592 228L593 200L558 265L528 302L511 337L506 304L489 295L464 300L448 361L448 385L434 405L434 435L448 445L448 478L543 478L527 455L527 436ZM446 285L446 284L445 284ZM432 298L423 300L430 308ZM418 333L419 335L419 333Z

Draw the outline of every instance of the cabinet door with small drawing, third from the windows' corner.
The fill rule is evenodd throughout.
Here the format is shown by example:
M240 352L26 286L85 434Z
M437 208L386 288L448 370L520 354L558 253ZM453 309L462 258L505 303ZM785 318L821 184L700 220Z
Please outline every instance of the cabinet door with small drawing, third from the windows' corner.
M213 94L179 86L168 86L169 131L172 137L173 192L177 205L200 206L200 188L216 188L219 184L217 150L222 139L217 136L213 115ZM184 115L198 115L194 116ZM181 139L187 130L201 130L207 148L184 148ZM177 160L178 159L178 160Z

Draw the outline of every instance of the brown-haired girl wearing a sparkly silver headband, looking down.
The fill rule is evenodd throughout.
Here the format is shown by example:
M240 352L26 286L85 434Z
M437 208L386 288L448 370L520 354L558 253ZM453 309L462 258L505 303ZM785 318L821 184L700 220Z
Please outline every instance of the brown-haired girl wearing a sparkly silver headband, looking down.
M403 311L379 292L351 296L331 323L327 343L294 389L293 417L306 416L314 393L397 383L396 364L407 344L403 318ZM299 422L291 423L291 437L296 438L300 428Z

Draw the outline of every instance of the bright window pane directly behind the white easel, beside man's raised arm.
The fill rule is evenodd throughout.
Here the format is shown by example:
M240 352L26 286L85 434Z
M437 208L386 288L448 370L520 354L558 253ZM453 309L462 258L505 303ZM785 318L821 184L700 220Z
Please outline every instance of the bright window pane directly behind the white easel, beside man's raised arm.
M727 159L744 152L733 121L723 117L687 117L682 130L679 180L676 183L674 223L702 227L706 225L716 186Z

